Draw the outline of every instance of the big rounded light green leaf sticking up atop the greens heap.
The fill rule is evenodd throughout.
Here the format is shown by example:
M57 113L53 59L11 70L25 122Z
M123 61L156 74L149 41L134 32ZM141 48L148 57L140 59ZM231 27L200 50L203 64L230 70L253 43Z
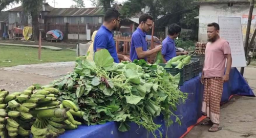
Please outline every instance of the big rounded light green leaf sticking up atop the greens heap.
M94 61L98 67L110 67L113 66L114 59L106 49L101 49L94 53Z

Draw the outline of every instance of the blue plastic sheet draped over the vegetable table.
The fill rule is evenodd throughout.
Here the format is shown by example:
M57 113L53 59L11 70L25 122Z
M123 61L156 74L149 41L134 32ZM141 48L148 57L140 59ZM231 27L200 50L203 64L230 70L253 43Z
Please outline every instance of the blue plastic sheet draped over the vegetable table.
M186 131L187 128L195 125L201 115L201 105L203 99L203 85L200 83L200 76L185 81L184 85L181 86L181 91L188 93L188 99L185 104L178 105L178 111L176 115L181 115L182 125L174 123L170 127L165 126L163 116L157 117L154 121L156 124L161 124L160 128L163 137L167 134L168 138L179 138ZM241 76L236 68L232 68L230 71L229 81L224 84L224 90L221 102L227 102L231 95L245 95L254 96L252 90L248 86L247 82ZM172 118L175 120L175 118ZM145 138L148 132L136 125L131 123L131 130L129 132L119 132L119 123L109 122L104 125L95 126L79 126L76 130L66 131L65 134L60 135L60 138ZM158 132L156 132L159 135ZM153 137L150 134L149 137Z

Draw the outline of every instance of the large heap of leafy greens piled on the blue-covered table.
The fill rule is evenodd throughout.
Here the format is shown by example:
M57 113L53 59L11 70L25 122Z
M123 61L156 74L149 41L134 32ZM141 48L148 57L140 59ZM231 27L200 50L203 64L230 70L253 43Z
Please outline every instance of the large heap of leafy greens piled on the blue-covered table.
M88 125L107 121L121 122L119 131L128 131L128 122L142 125L155 135L161 125L153 119L164 114L167 124L177 104L184 103L187 94L178 89L179 75L166 73L163 67L145 61L114 63L110 53L102 49L95 53L95 62L86 57L76 59L74 72L53 82L60 89L59 100L72 100L85 113ZM160 134L162 134L160 132ZM162 135L160 135L162 137Z

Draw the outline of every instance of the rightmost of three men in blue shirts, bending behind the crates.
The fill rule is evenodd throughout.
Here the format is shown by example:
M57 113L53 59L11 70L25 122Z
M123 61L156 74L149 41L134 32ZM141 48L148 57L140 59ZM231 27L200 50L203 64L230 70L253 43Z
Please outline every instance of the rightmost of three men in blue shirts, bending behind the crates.
M164 63L170 59L180 56L181 54L188 54L188 52L176 52L175 39L178 38L181 32L181 27L177 24L171 25L168 29L168 36L162 42L162 57Z

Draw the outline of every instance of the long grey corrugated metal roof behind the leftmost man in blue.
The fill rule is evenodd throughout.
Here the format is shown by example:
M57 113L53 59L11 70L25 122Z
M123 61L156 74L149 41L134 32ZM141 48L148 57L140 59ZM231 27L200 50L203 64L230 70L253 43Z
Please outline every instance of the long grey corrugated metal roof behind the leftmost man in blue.
M104 8L55 8L47 16L104 16Z

